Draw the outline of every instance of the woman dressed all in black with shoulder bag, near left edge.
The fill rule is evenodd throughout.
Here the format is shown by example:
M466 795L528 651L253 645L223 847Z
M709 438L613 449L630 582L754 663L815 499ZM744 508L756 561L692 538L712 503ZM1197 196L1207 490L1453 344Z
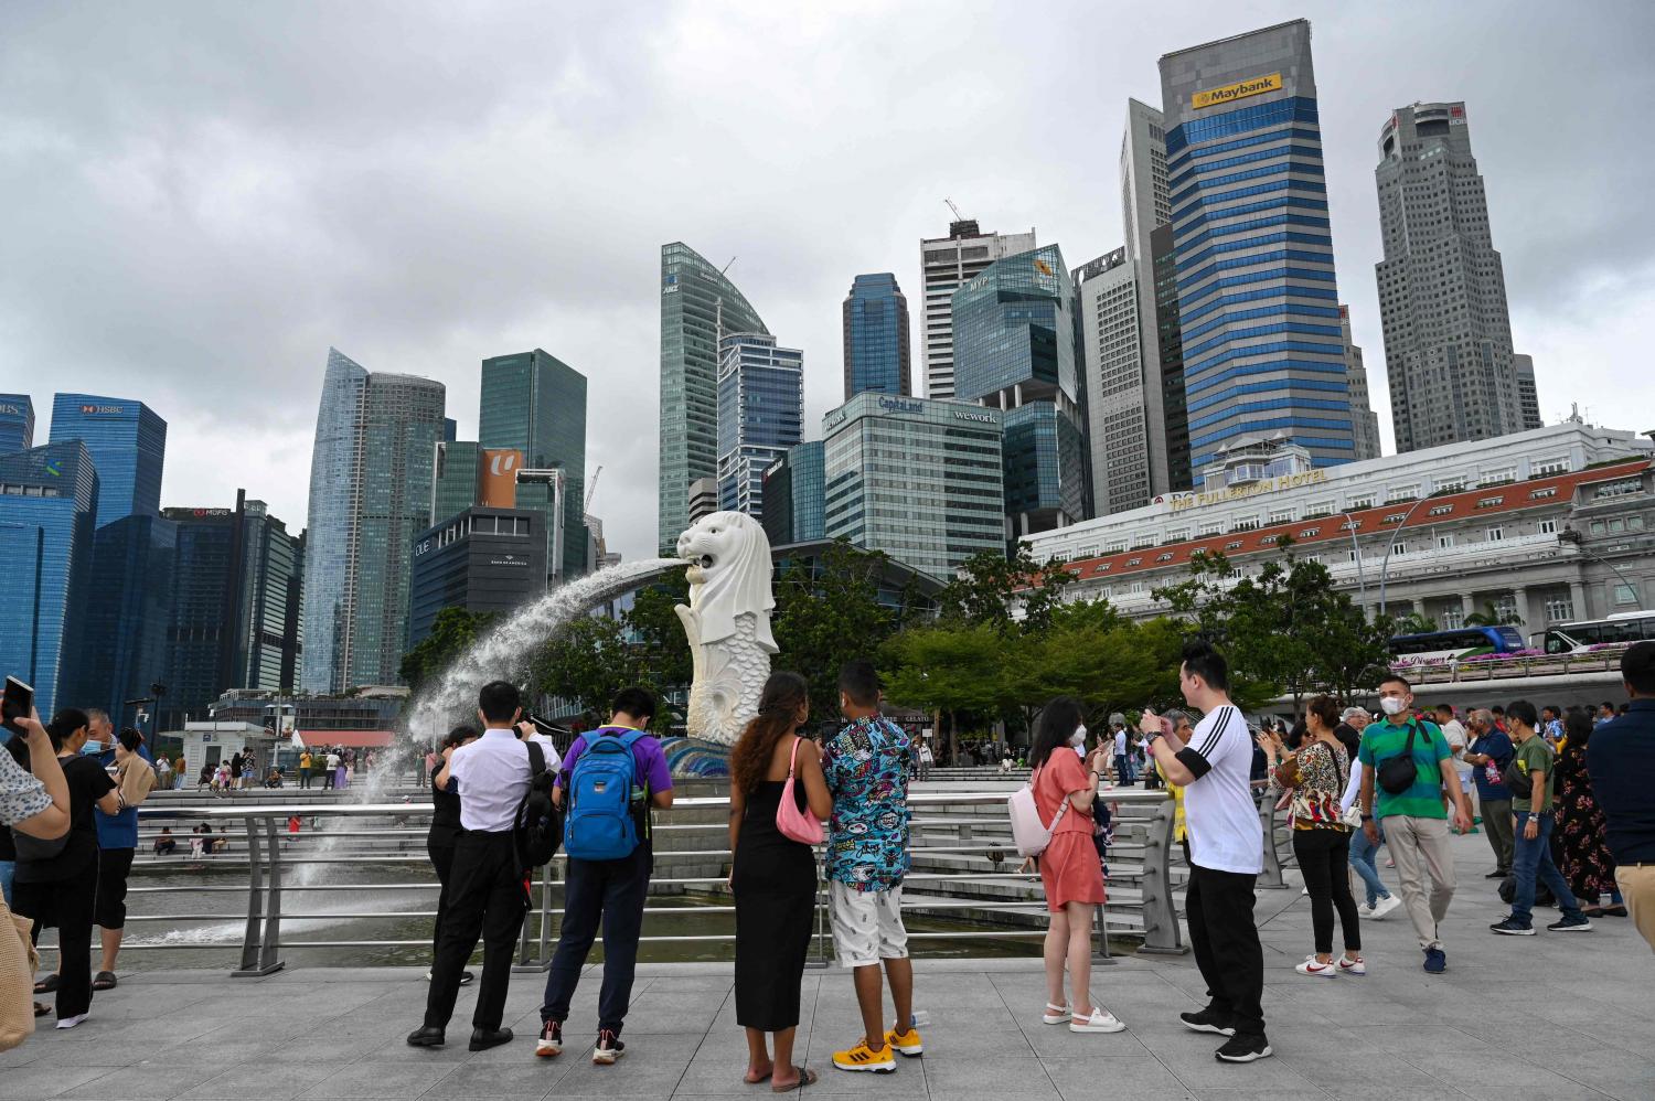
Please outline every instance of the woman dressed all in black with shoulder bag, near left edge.
M93 901L98 894L98 825L93 806L114 815L121 791L93 757L81 755L89 720L86 712L66 707L46 724L51 750L63 767L70 788L70 831L63 848L48 854L18 846L15 906L35 919L33 935L58 927L60 972L38 983L35 993L56 992L58 1028L74 1028L93 1005Z

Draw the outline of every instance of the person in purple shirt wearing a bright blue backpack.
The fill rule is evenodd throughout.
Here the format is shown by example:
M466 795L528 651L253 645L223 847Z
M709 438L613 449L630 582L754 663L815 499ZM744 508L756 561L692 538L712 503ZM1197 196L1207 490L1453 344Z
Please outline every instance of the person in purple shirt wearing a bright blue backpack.
M644 897L655 868L649 808L672 806L672 772L660 742L647 733L655 697L622 689L612 717L574 738L553 798L563 808L563 929L546 977L535 1055L563 1053L563 1023L586 967L599 921L604 930L604 985L597 995L597 1043L592 1063L612 1065L626 1053L621 1025L632 1000Z

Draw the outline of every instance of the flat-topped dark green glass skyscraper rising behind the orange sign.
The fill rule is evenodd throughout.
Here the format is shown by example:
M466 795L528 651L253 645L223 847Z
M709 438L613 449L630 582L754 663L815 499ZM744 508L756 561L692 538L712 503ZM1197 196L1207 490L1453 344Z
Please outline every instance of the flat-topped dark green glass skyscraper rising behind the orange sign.
M540 348L483 359L477 440L523 452L530 470L563 470L563 546L546 560L561 555L564 578L586 573L586 376Z

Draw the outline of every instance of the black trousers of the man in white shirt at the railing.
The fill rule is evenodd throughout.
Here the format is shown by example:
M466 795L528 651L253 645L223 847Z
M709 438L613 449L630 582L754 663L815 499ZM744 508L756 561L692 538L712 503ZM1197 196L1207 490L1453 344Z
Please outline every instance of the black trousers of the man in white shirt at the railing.
M473 1028L500 1028L511 982L511 954L523 927L523 876L511 831L462 833L453 846L449 906L425 995L425 1026L447 1028L460 997L460 972L483 939L483 978L477 990Z

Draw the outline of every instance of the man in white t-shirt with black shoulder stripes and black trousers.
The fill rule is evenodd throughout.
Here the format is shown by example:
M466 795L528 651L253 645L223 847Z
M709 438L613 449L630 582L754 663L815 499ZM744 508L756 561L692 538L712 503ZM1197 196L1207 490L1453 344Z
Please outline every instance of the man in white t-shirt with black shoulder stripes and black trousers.
M1149 752L1170 783L1183 786L1190 838L1185 916L1190 947L1206 980L1206 1008L1180 1013L1187 1028L1230 1036L1213 1055L1251 1063L1271 1055L1264 1038L1264 950L1253 919L1253 884L1264 863L1264 828L1253 801L1253 737L1230 702L1230 666L1205 641L1183 647L1178 687L1205 714L1188 745L1144 714Z

